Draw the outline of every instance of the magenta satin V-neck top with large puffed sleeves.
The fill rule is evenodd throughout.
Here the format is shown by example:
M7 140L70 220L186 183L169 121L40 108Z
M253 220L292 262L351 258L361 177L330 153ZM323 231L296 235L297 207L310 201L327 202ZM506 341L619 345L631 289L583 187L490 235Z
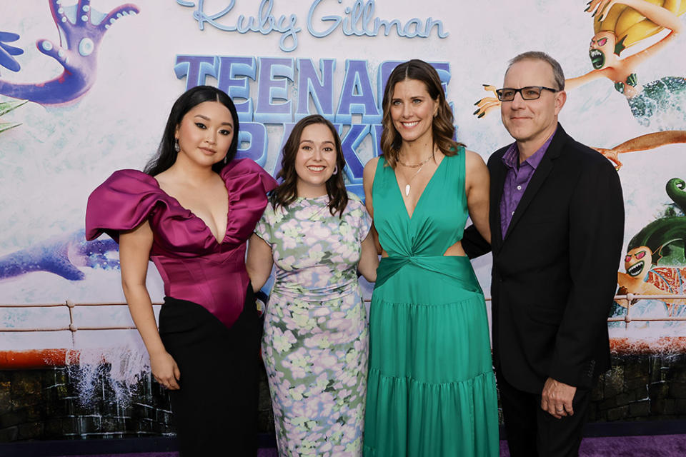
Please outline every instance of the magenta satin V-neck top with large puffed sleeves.
M229 192L227 233L217 241L198 216L160 189L156 179L137 170L115 171L93 191L86 207L86 238L119 232L149 221L155 263L166 296L193 301L231 327L243 310L249 283L246 240L277 186L250 159L232 161L222 170Z

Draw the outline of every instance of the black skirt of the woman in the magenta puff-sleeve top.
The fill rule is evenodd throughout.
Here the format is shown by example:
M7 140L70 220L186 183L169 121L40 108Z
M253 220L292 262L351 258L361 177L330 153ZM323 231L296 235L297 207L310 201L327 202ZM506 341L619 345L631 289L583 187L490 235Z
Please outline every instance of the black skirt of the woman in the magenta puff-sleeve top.
M260 326L252 287L231 328L197 303L165 297L159 334L181 371L181 388L169 391L181 456L255 456Z

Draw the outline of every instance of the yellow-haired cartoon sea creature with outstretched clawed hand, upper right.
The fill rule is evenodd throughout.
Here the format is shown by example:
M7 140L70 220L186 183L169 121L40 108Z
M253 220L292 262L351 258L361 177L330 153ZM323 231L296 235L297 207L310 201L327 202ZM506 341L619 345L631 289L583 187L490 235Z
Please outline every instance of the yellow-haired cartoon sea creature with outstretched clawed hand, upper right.
M605 77L626 97L632 114L643 126L659 130L686 128L686 79L666 76L640 84L636 74L637 66L665 49L683 30L678 16L686 12L686 1L592 0L587 5L585 11L597 18L594 20L595 35L589 46L593 70L567 79L565 90ZM664 29L670 31L657 43L620 59L622 51ZM495 87L489 84L484 84L484 90L495 94ZM500 102L496 97L485 97L476 105L474 114L480 118Z

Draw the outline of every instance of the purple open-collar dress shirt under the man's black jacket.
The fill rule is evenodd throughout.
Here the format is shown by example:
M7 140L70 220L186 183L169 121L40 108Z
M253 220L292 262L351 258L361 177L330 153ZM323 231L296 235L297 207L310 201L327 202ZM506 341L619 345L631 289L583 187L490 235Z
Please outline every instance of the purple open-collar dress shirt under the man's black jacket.
M509 227L509 223L512 221L517 205L520 204L522 195L527 190L529 181L531 181L531 177L534 176L534 172L541 163L553 136L555 136L555 132L538 151L529 156L520 166L517 166L517 163L520 161L520 149L517 148L516 142L509 145L509 148L503 154L502 163L507 166L507 174L505 175L505 184L502 188L502 199L500 199L500 230L502 238L505 238L507 227Z

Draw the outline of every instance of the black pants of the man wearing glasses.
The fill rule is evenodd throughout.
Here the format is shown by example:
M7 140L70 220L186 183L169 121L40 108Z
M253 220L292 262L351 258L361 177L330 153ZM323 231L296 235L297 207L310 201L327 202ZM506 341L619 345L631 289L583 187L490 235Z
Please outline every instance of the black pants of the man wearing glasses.
M541 409L541 394L520 391L496 371L507 446L512 457L572 457L579 455L590 391L577 389L574 416L556 419Z

